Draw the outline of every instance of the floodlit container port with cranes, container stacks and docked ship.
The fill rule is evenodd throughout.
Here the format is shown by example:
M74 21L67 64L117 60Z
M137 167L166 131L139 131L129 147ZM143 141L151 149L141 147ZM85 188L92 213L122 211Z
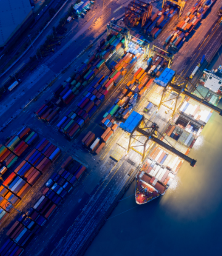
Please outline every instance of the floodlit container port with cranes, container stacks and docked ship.
M221 66L208 70L220 2L159 5L128 2L80 64L2 124L0 255L83 255L135 178L141 205L198 164L189 152L222 115Z

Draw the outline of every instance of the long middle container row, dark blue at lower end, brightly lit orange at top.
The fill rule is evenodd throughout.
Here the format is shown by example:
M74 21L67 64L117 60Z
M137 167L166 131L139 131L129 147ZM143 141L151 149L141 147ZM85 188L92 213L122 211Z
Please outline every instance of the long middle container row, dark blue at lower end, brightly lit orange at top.
M134 44L134 47L132 46L137 52L131 54L125 51L120 59L110 63L112 71L109 75L101 75L94 78L87 90L83 93L83 98L76 104L76 107L66 112L64 117L57 123L57 128L61 133L72 139L89 121L89 118L92 117L101 104L107 101L110 96L110 89L113 86L117 86L123 75L131 70L141 56L143 56L144 52L142 48L138 49L136 44Z

